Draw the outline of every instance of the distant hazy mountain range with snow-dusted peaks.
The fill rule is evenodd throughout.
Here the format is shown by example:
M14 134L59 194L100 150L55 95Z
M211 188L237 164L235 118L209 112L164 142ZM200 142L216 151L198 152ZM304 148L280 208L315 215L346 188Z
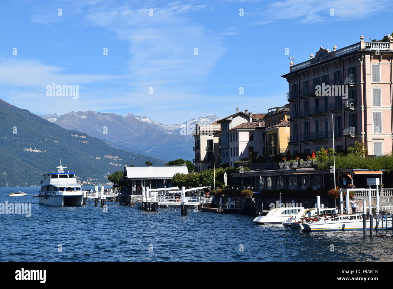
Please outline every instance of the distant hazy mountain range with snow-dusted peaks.
M119 149L170 161L194 158L194 139L190 135L196 123L207 125L220 118L214 114L193 118L181 124L164 125L147 116L132 113L121 116L115 113L92 110L68 112L64 115L46 114L40 117L65 129L95 136Z

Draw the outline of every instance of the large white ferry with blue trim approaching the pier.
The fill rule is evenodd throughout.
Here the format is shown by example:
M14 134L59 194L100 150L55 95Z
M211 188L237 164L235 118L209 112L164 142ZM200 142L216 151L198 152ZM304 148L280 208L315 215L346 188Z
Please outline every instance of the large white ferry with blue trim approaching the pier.
M64 173L67 167L57 167L57 173L42 175L39 203L50 206L82 206L83 191L75 173Z

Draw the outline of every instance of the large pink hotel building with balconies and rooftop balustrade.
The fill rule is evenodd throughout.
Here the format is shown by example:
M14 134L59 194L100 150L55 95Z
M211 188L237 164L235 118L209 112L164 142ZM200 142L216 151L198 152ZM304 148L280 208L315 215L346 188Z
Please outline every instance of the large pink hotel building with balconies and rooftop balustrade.
M368 155L390 153L393 147L393 42L361 41L333 51L320 48L310 60L283 75L289 83L292 154L334 146L345 150L357 140ZM320 93L318 86L331 91ZM340 87L338 87L340 86ZM340 91L342 88L342 91ZM347 94L345 91L347 89Z

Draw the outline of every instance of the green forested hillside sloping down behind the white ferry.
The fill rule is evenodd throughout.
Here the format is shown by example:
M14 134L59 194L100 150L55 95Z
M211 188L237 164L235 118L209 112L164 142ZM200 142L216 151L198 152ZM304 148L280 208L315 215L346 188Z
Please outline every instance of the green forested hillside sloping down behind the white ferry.
M165 164L157 158L116 149L85 133L63 129L1 99L0 136L0 187L38 185L41 174L56 171L60 159L78 180L92 182L107 181L105 176L123 170L124 164L145 166L147 160L154 166Z

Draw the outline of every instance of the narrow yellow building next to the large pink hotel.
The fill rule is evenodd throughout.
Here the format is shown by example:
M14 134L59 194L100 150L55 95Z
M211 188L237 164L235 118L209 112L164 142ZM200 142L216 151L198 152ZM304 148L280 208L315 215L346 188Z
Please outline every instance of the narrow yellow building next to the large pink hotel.
M266 128L266 155L279 155L289 153L288 136L289 129L289 106L273 107L268 109L264 117Z

